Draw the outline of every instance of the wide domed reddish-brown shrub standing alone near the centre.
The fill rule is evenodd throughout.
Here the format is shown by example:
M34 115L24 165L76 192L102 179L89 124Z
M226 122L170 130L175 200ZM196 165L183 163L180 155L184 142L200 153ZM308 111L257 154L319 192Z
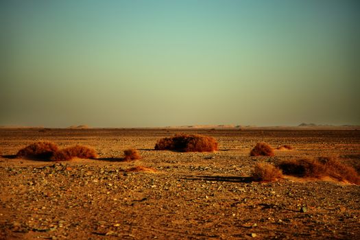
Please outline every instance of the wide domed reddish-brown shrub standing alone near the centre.
M156 143L155 149L176 152L215 152L217 141L212 136L176 134L169 138L160 139Z

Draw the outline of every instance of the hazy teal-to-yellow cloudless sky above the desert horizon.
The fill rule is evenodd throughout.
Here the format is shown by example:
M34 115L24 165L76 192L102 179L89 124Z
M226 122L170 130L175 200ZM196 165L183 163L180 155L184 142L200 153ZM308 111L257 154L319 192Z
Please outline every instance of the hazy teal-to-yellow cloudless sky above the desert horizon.
M360 1L0 1L0 125L360 124Z

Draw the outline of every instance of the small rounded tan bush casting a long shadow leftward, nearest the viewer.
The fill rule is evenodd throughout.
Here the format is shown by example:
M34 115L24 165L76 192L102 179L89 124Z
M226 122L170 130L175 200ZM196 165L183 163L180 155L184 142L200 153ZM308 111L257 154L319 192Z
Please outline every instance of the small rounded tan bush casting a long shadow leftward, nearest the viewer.
M259 182L272 182L283 178L283 173L269 163L257 163L252 170L252 178Z

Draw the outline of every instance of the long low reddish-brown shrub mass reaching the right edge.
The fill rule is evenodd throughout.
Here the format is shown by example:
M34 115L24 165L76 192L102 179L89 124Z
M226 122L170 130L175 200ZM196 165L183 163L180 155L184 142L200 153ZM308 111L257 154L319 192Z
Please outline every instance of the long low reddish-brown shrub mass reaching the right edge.
M331 177L339 181L360 184L360 176L357 171L333 156L283 160L277 166L283 170L284 174L291 176L318 179Z

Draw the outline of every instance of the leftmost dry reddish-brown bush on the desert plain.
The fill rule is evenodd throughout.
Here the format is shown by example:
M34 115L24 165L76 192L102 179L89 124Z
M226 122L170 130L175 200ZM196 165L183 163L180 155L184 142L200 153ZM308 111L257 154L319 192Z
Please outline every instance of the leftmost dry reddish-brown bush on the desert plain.
M58 151L58 145L49 141L38 141L20 149L16 154L19 158L36 158L49 160Z

